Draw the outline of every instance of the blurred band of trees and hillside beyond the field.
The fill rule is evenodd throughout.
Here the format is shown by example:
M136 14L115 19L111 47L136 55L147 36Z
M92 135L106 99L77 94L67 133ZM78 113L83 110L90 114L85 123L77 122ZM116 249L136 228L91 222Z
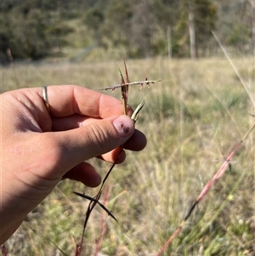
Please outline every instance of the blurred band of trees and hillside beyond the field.
M2 64L253 54L254 0L2 0ZM108 53L108 54L107 54Z

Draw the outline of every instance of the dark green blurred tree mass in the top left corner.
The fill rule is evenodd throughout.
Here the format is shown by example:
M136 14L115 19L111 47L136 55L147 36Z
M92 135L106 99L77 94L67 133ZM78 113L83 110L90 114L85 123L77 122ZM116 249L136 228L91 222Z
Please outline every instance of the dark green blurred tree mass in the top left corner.
M0 58L8 60L6 51L15 59L39 60L54 48L65 44L71 28L61 14L78 0L2 0L0 9ZM81 10L80 10L81 12Z

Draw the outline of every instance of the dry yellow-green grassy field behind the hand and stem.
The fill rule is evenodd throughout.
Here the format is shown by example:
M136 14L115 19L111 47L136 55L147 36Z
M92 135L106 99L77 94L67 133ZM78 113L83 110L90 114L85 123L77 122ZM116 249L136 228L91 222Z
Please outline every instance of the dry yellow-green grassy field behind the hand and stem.
M150 88L130 88L129 104L147 96L137 128L146 134L142 152L127 152L108 180L102 202L118 222L96 207L82 255L156 255L184 219L192 202L255 122L252 59L127 60L131 81L165 79ZM90 64L14 65L2 69L2 92L50 84L105 88L120 82L122 61ZM120 92L105 92L121 98ZM86 95L84 95L86 100ZM253 101L253 104L252 104ZM255 131L231 168L213 185L184 229L162 255L255 255ZM104 176L109 163L91 160ZM72 191L97 189L65 180L28 214L8 242L8 255L74 255L88 202Z

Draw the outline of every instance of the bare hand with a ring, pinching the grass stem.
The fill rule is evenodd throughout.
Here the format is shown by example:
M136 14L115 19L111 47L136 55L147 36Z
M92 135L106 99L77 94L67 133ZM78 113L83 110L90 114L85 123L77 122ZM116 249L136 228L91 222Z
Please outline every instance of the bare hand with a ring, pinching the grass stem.
M48 87L50 113L42 88L1 94L0 244L5 242L62 179L96 187L101 177L86 160L125 160L141 151L144 134L122 115L122 102L72 85ZM128 108L128 115L132 114ZM121 152L120 152L121 151Z

